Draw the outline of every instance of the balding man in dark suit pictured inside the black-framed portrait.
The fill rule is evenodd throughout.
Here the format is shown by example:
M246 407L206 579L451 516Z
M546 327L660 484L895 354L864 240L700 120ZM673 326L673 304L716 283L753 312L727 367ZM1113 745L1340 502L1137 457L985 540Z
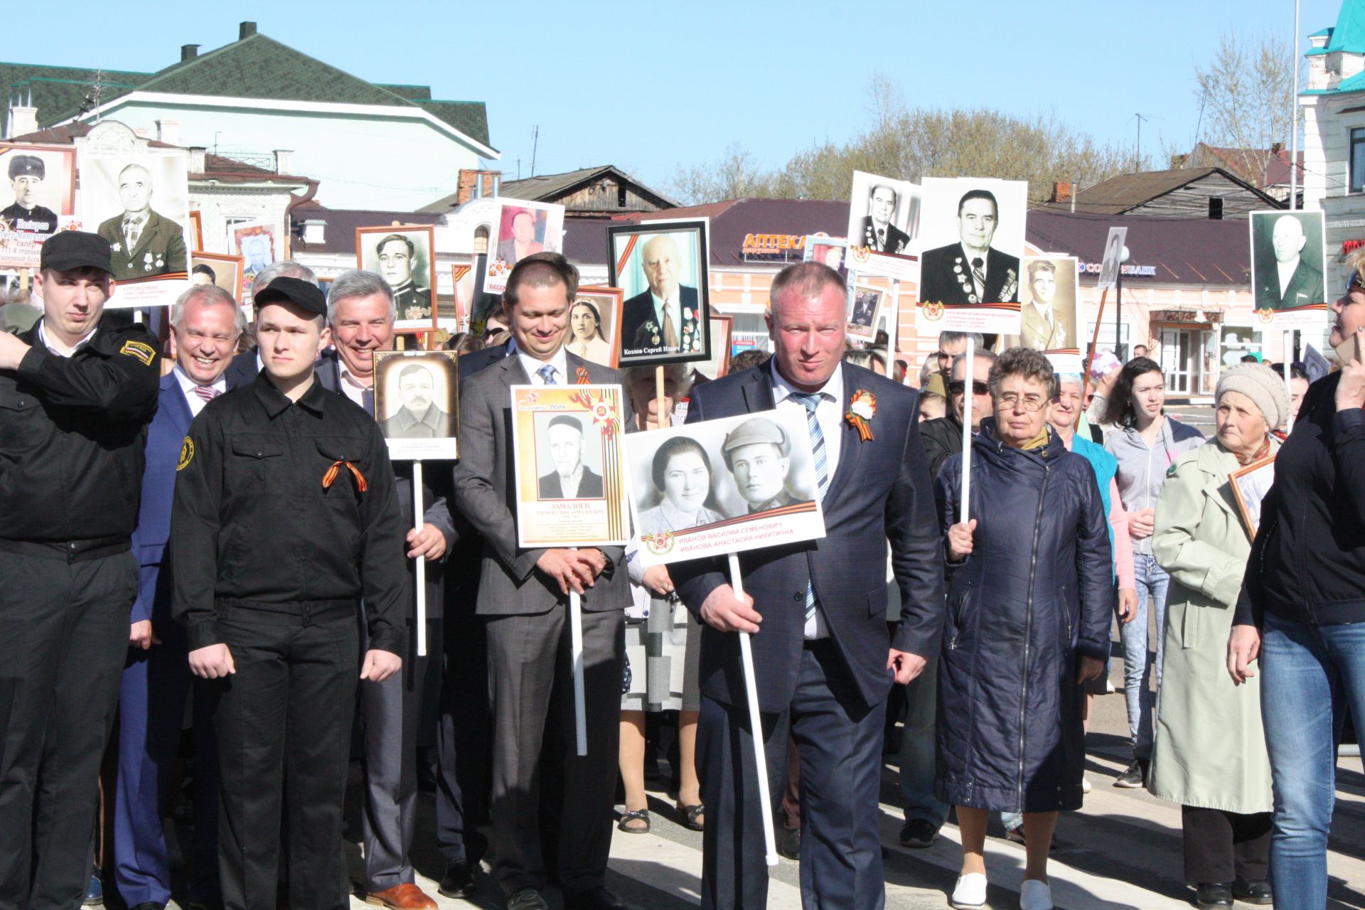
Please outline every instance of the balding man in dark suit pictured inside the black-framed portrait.
M702 351L696 288L681 284L682 255L666 233L648 240L640 267L650 289L625 302L621 353L625 356Z

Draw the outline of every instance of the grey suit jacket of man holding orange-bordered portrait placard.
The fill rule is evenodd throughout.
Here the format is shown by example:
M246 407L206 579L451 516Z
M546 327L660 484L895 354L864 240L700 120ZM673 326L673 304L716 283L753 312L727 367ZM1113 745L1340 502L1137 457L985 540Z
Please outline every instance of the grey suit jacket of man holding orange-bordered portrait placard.
M594 385L616 385L621 374L610 367L568 357L569 375L588 371ZM460 377L460 461L455 467L455 503L483 538L479 569L480 615L539 614L568 603L557 583L535 572L543 548L524 550L516 533L516 476L512 457L512 386L530 385L520 357L504 357L479 372ZM622 424L632 419L622 398ZM588 611L624 610L631 602L631 580L622 547L602 547L612 561L584 595Z

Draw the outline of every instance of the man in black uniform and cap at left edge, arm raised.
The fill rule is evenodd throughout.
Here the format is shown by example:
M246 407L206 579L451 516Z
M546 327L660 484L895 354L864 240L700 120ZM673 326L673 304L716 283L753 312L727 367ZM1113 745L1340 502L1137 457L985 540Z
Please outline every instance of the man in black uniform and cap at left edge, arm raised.
M0 334L0 906L74 907L138 593L130 538L161 377L101 325L109 244L57 232L42 318Z

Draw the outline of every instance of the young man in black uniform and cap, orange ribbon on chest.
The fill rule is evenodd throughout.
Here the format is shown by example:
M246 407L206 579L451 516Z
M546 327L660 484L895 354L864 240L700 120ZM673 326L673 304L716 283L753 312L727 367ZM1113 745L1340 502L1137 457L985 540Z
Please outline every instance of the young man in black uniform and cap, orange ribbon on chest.
M355 678L403 664L405 528L379 427L313 374L322 292L277 278L255 304L261 374L210 401L180 453L172 611L190 669L221 681L224 907L274 907L288 779L289 906L334 910Z

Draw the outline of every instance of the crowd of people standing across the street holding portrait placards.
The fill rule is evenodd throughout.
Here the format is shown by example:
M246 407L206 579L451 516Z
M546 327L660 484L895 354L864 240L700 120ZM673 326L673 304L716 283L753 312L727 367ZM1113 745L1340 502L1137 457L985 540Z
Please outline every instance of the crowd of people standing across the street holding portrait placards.
M474 895L486 865L509 910L549 907L550 888L569 910L622 907L613 824L650 831L665 739L674 820L703 836L703 907L766 906L768 824L804 906L880 907L882 756L901 722L900 842L928 847L956 816L949 903L981 907L998 813L1026 853L1020 906L1047 910L1058 813L1092 787L1084 738L1115 623L1133 753L1114 786L1181 806L1171 875L1200 907L1324 906L1335 746L1347 707L1365 711L1365 251L1349 266L1339 370L1290 389L1260 363L1226 370L1205 441L1166 413L1145 351L1087 401L1088 379L1033 349L943 333L916 390L885 347L846 344L845 284L823 263L774 280L771 353L658 383L584 359L599 314L572 265L535 252L486 332L446 341L461 457L418 475L374 420L375 355L397 344L381 276L343 273L324 296L308 269L266 266L250 341L232 295L195 284L158 338L105 311L108 241L61 232L41 319L0 333L0 909L109 885L164 910L182 776L183 906L344 906L352 760L367 902L435 906L412 865L430 779L440 894ZM801 415L824 536L741 554L743 592L723 559L519 547L509 389L575 382L620 383L627 432ZM863 426L854 396L875 401ZM682 437L658 449L639 531L722 517L730 449L788 445L743 426L725 465ZM1248 528L1233 478L1272 456Z

